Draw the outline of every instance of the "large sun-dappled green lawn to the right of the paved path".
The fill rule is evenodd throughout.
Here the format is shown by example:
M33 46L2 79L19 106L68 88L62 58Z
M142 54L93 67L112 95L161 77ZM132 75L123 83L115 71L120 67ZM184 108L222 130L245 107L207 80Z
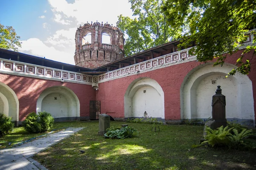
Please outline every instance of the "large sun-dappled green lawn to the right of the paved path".
M113 127L121 124L111 121ZM127 124L138 130L135 137L106 139L97 135L98 122L57 123L55 128L86 128L34 159L50 170L256 170L255 151L192 148L202 126L159 125L160 132L152 132L152 124Z

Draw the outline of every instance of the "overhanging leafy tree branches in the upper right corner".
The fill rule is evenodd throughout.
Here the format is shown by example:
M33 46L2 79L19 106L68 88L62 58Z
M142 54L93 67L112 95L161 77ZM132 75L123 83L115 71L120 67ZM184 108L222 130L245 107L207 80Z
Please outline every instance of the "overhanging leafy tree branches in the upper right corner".
M236 52L247 40L248 34L255 34L255 31L248 32L256 28L255 0L166 0L163 11L170 26L183 30L179 47L194 43L196 48L190 53L195 53L198 61L217 58L214 65L223 64L227 55ZM255 44L247 46L237 60L238 68L230 75L249 73L250 61L243 57L252 49L256 49Z

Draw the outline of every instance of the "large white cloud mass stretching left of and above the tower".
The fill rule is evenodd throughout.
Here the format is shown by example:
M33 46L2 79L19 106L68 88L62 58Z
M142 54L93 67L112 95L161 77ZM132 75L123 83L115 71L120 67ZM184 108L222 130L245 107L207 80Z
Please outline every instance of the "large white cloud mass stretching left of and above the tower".
M74 39L76 27L79 27L79 24L98 20L103 23L108 21L115 26L118 15L132 16L131 5L123 0L75 0L72 4L67 3L66 0L48 0L48 2L53 14L44 11L44 13L52 14L52 17L42 23L42 26L47 30L46 33L55 33L46 35L44 40L31 37L22 41L22 48L19 48L19 51L63 63L75 64ZM51 21L61 24L54 24Z

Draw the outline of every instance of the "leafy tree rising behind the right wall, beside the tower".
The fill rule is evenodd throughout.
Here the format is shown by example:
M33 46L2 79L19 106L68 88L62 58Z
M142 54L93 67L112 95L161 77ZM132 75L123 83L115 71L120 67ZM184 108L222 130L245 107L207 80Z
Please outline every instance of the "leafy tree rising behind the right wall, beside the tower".
M144 51L175 38L180 29L172 29L166 23L161 8L164 0L129 0L133 15L138 18L118 16L117 27L128 35L125 55Z

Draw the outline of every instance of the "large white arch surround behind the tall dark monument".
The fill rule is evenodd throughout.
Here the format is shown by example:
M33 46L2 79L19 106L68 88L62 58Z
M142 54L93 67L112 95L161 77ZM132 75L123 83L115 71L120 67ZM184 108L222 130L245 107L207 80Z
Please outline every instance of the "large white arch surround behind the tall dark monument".
M196 106L198 105L197 99L195 97L196 88L199 86L199 83L204 79L209 77L210 75L227 75L232 69L236 68L236 66L224 63L223 66L212 66L212 63L203 64L201 66L193 69L183 81L183 84L180 88L180 118L195 118L194 115L196 110ZM247 75L241 75L237 73L234 76L228 77L230 81L233 83L233 88L236 91L236 109L239 113L238 115L229 115L226 111L227 118L237 118L241 120L253 120L254 121L254 105L253 105L253 88L252 82L248 78ZM217 89L217 85L215 84L215 89ZM201 89L204 90L204 89ZM225 91L223 91L225 93ZM212 91L212 95L215 94L215 91ZM227 100L226 100L227 101ZM228 101L227 101L228 102ZM226 106L227 108L227 106Z

